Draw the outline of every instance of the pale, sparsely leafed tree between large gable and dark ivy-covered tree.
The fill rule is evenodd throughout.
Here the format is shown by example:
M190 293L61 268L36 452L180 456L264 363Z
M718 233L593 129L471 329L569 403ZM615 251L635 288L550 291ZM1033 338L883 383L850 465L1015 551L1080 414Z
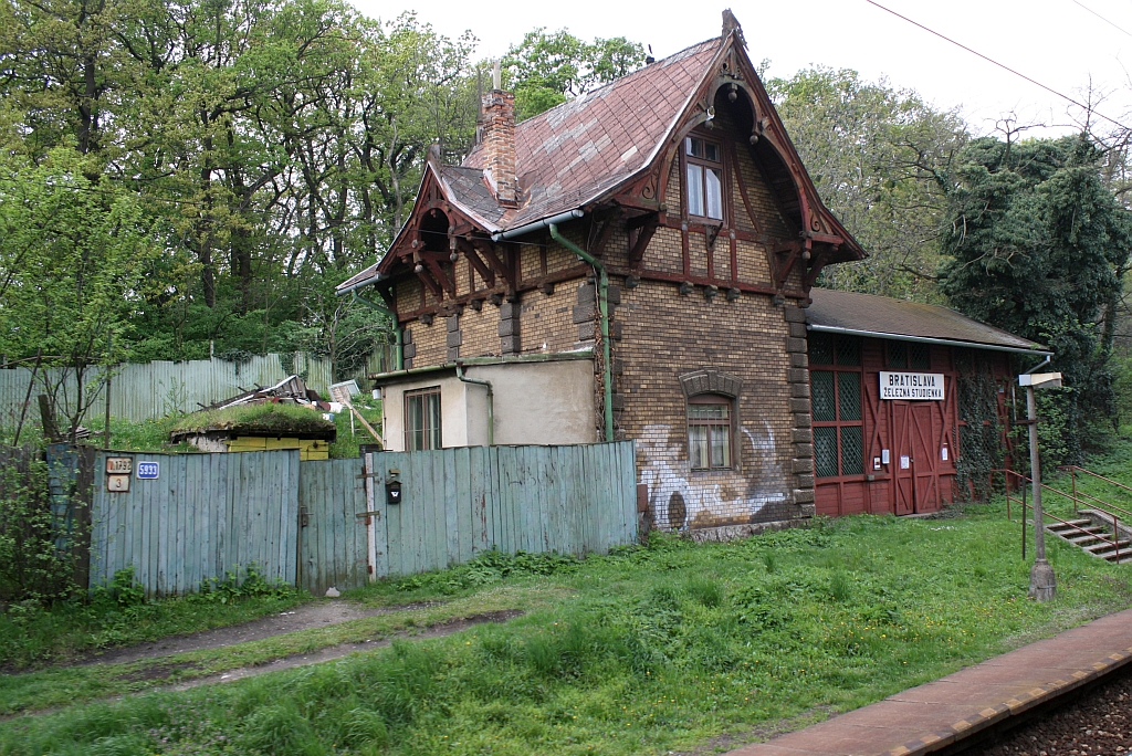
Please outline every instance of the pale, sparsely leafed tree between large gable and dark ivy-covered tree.
M766 87L822 200L869 255L827 268L821 285L938 300L946 197L935 177L968 139L958 114L848 69L811 68Z

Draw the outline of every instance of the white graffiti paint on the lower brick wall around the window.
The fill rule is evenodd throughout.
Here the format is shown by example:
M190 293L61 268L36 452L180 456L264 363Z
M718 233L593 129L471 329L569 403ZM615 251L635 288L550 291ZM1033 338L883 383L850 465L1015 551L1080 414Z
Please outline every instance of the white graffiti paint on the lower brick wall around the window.
M649 509L655 526L683 531L704 512L713 517L753 516L769 505L784 502L787 481L775 462L774 431L766 421L762 426L754 431L740 428L740 439L745 437L751 444L748 464L737 471L695 475L692 474L684 433L674 433L672 427L667 424L646 426L637 438L637 445L645 459L641 482L649 486ZM724 499L724 487L741 490L743 493L738 498ZM684 504L683 518L679 517L680 500Z

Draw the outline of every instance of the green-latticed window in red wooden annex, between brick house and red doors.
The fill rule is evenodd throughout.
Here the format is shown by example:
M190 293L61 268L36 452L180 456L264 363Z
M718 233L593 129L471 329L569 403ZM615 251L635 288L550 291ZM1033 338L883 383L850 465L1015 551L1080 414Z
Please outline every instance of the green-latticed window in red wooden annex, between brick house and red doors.
M817 476L863 475L860 340L811 333L809 364Z

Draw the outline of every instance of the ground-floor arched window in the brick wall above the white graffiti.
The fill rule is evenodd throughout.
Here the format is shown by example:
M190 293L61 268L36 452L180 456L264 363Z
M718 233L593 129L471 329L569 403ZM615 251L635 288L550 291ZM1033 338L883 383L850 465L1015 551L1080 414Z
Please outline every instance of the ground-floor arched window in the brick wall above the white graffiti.
M691 467L734 469L739 379L718 370L697 370L680 376L680 384L687 402Z

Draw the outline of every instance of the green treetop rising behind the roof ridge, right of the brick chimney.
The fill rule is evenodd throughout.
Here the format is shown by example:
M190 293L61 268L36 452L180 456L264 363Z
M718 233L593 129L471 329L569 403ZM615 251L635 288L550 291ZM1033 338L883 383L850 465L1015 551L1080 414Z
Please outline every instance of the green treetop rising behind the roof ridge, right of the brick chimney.
M504 86L515 93L518 120L591 92L644 65L644 46L625 37L583 42L566 29L539 27L500 61Z

